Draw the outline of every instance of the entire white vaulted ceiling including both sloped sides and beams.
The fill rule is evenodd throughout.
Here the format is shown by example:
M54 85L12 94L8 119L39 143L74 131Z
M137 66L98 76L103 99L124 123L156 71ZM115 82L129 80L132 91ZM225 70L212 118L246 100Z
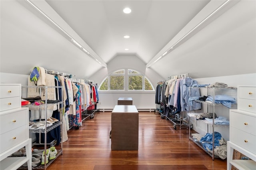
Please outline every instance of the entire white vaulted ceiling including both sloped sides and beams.
M255 0L0 3L1 72L29 74L42 66L86 79L115 57L134 55L164 79L183 73L193 78L256 73ZM130 14L123 12L126 7Z

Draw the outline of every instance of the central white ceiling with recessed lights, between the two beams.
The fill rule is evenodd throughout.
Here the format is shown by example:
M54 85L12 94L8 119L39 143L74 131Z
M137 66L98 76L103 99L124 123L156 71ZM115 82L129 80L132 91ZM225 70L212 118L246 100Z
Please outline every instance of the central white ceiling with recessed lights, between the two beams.
M148 63L209 1L46 0L105 63L117 54Z

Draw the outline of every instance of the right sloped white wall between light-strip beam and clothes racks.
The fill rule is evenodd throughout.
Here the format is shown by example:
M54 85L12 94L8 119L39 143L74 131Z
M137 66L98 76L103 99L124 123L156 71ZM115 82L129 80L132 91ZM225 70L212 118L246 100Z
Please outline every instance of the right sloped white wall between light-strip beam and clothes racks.
M240 1L152 65L163 77L256 73L256 1Z

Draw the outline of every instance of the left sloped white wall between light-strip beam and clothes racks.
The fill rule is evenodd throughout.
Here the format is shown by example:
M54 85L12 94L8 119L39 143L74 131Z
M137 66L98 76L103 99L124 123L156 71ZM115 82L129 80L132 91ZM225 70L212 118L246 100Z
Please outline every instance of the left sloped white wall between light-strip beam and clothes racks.
M0 72L29 75L35 66L88 79L102 68L23 1L1 1ZM85 57L86 56L86 57ZM75 77L74 77L75 78Z

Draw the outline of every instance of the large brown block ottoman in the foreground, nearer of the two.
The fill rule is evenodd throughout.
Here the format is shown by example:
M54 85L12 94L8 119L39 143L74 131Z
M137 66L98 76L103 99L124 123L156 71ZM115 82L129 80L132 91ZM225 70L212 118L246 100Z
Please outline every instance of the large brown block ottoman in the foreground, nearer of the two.
M111 150L138 150L139 113L134 105L116 105L111 113Z

